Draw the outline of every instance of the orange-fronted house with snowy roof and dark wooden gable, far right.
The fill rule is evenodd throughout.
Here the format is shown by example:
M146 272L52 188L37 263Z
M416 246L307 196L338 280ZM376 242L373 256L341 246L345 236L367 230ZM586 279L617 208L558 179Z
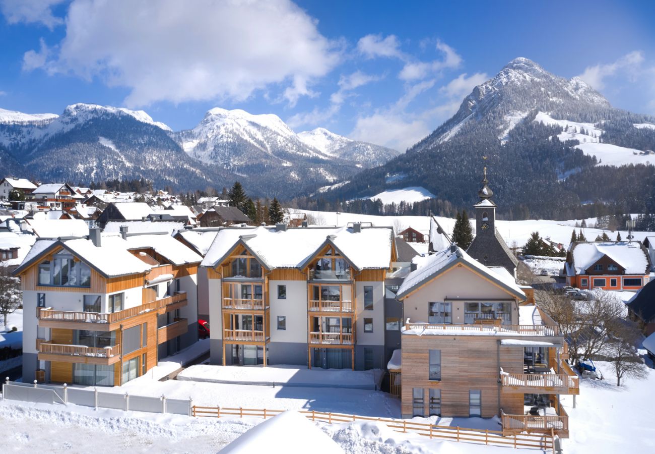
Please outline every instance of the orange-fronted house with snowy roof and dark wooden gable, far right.
M564 264L567 285L579 289L639 290L649 271L645 247L627 241L576 241Z

